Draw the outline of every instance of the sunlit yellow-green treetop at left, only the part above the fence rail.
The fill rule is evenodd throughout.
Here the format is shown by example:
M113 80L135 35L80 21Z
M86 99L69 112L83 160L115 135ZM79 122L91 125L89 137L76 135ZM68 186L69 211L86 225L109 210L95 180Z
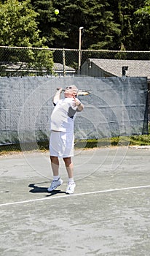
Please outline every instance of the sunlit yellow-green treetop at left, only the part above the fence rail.
M29 0L8 0L0 4L0 45L42 47L36 17Z

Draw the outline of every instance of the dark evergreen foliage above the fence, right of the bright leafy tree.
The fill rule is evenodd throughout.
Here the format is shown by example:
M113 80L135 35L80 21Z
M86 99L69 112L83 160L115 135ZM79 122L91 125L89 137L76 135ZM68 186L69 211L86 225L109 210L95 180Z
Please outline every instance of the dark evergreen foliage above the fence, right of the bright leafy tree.
M141 39L141 23L145 25L140 14L149 5L149 0L32 0L33 7L39 13L39 28L42 36L47 38L47 45L54 48L78 48L79 27L84 27L82 34L83 49L144 50ZM58 16L55 9L60 10ZM147 8L147 7L146 7ZM138 11L139 10L139 11ZM146 16L146 35L149 41L149 15ZM137 37L138 35L138 37ZM149 50L149 43L146 43Z

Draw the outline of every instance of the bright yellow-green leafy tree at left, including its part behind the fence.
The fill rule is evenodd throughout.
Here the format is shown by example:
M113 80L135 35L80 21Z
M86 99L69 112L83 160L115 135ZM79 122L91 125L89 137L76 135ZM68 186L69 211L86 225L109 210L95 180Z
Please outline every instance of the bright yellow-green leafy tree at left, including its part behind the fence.
M38 24L35 19L38 15L31 9L30 0L21 2L7 0L4 4L0 3L0 45L46 48L44 46L46 39L39 37L40 31L37 29ZM1 52L2 54L3 52ZM39 67L39 59L47 61L43 61L43 66ZM20 63L19 69L25 62L27 68L42 69L42 67L46 67L47 72L52 72L52 52L48 50L15 49L12 51L9 49L5 61Z

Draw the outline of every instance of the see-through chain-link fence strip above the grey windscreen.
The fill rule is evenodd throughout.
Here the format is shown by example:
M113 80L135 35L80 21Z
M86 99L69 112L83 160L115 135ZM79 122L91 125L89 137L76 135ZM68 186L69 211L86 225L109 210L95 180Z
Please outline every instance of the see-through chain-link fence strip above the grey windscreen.
M106 63L106 71L107 66L114 66L114 60L117 61L118 65L119 61L122 60L122 64L130 65L128 71L132 68L130 76L150 76L150 51L71 50L4 46L0 46L0 76L84 75L82 66L86 61L89 61L90 66L92 59L103 59L103 64ZM120 75L123 75L122 67L119 67ZM114 75L115 70L114 74L107 76Z

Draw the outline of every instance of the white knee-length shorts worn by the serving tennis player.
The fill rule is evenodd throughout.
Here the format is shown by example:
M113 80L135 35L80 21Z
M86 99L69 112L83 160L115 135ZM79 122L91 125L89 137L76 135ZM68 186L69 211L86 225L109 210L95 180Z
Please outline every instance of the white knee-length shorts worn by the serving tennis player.
M61 158L73 157L74 133L51 131L50 156Z

